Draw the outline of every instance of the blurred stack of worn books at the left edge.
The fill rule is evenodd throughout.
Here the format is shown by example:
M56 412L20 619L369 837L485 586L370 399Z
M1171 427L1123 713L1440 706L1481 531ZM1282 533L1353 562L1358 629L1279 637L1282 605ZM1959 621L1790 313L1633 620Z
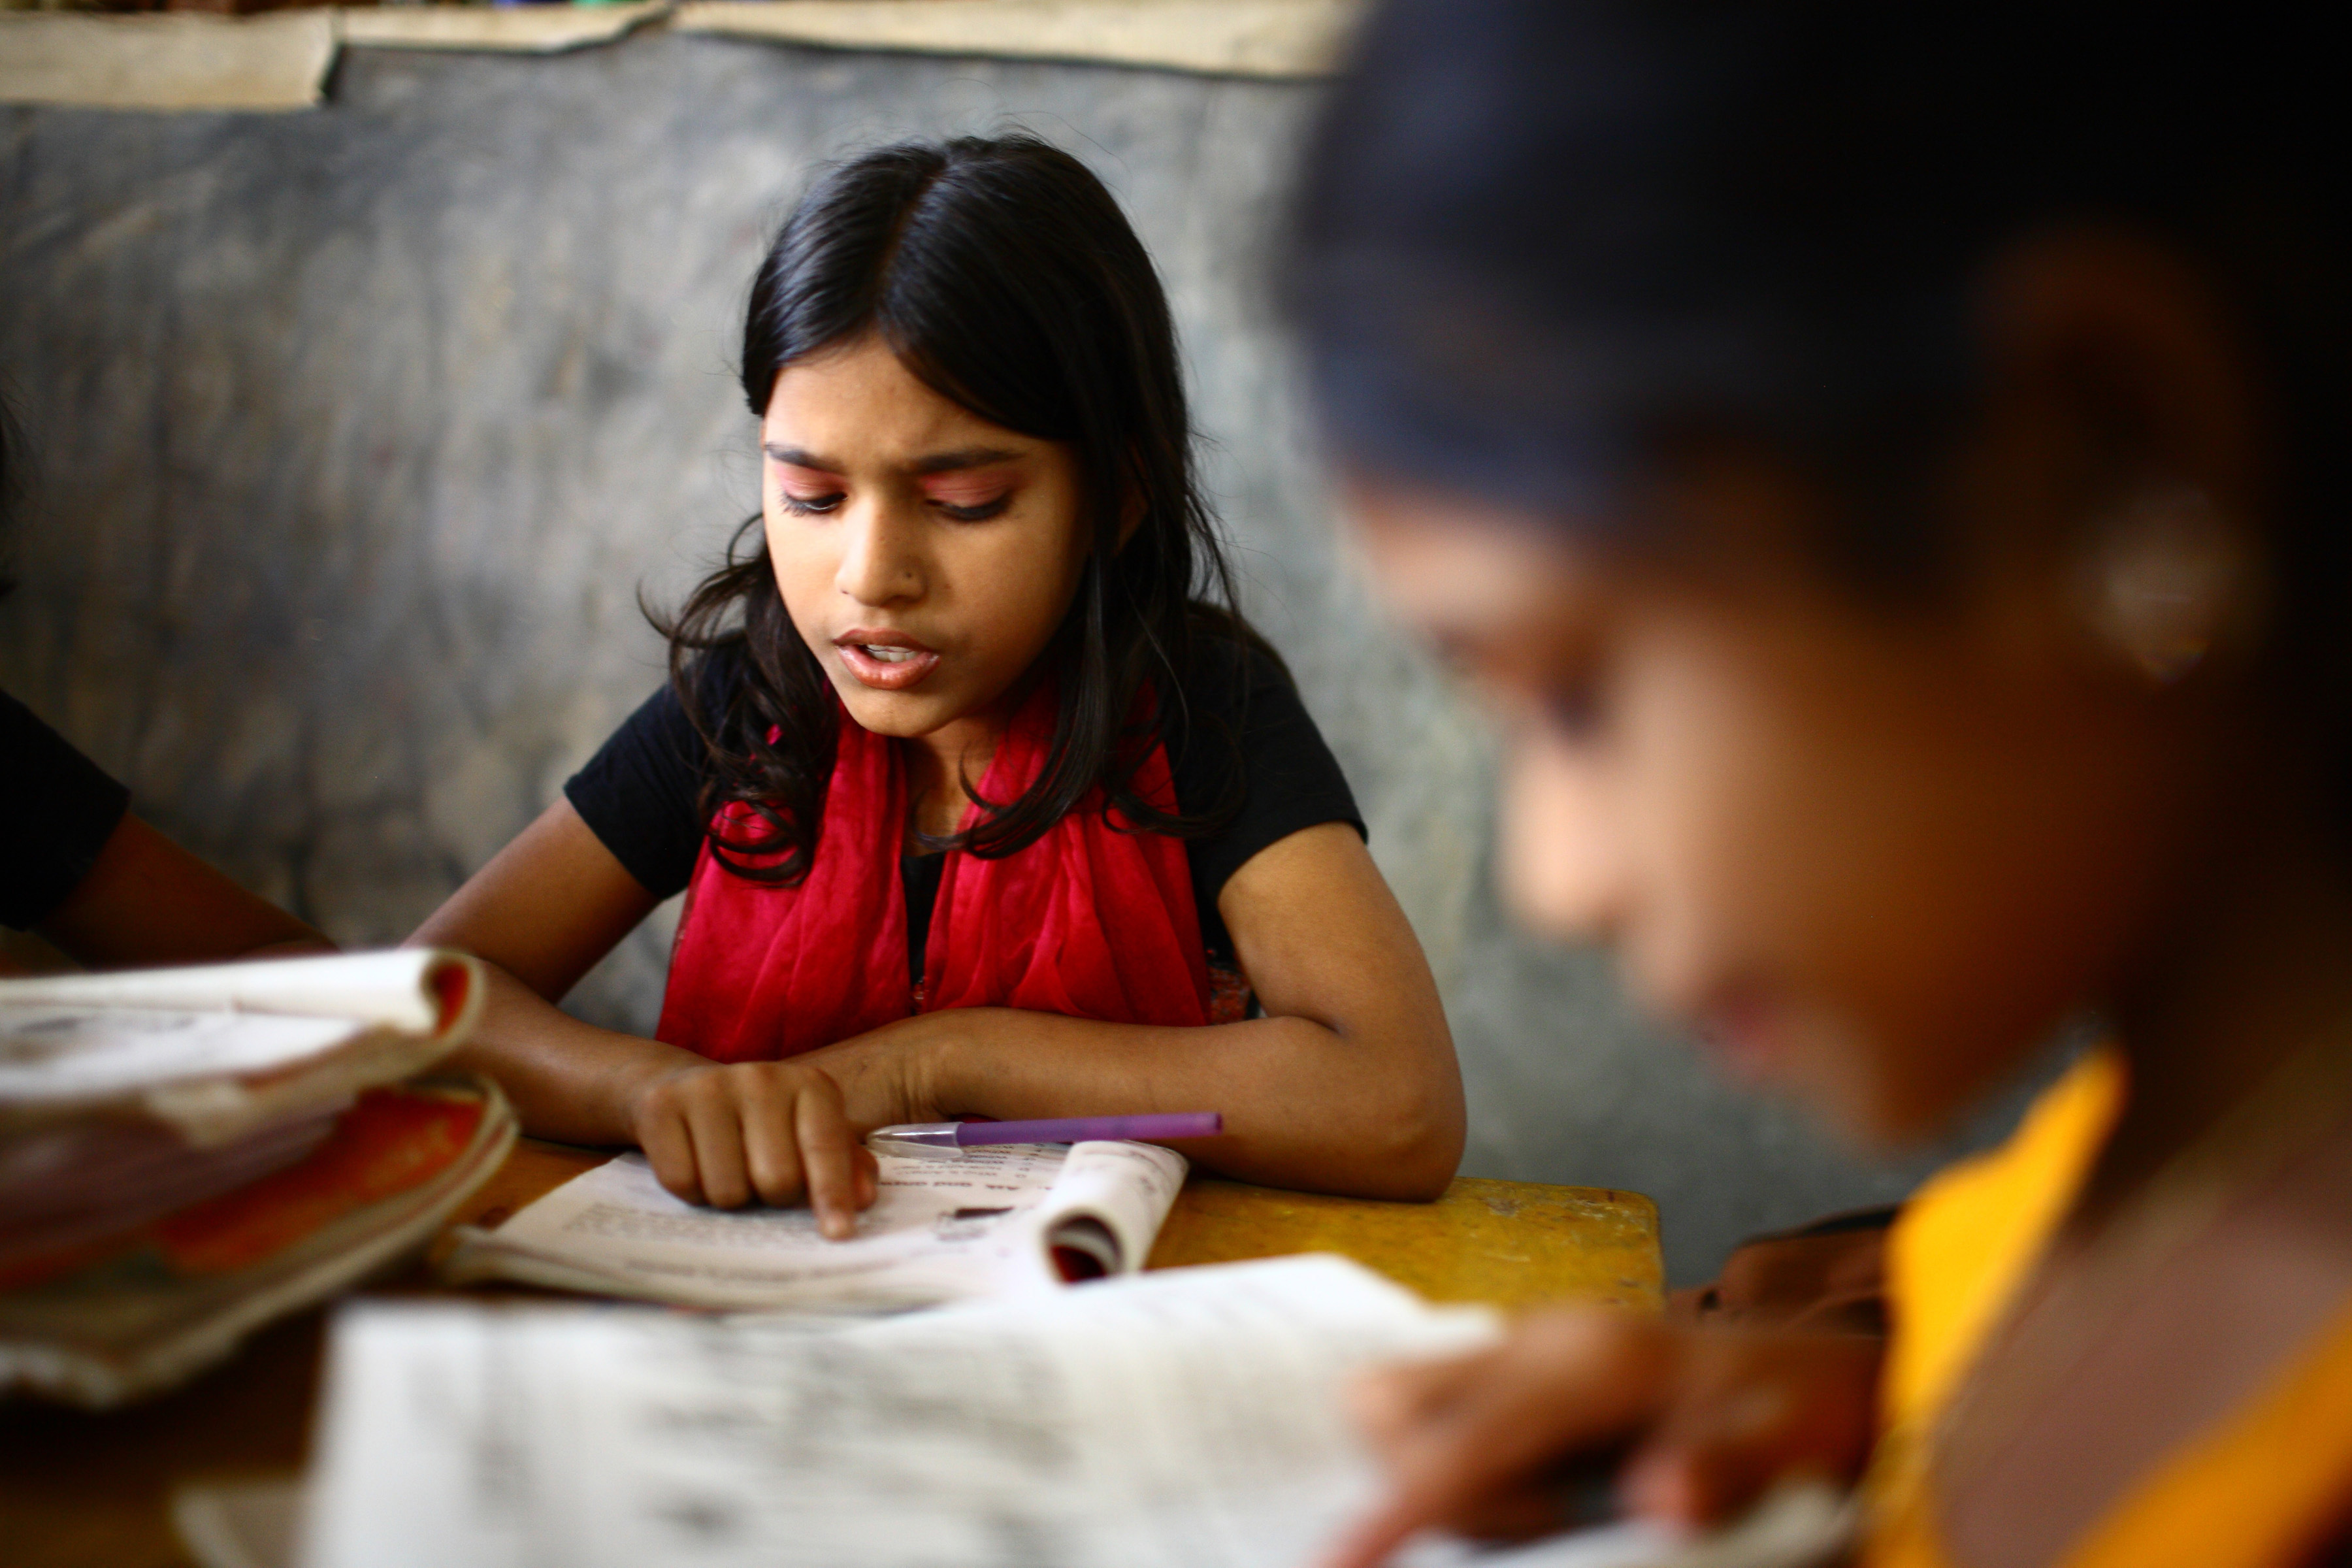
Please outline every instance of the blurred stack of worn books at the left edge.
M136 1399L423 1246L515 1140L419 1077L482 992L454 952L0 980L0 1392Z

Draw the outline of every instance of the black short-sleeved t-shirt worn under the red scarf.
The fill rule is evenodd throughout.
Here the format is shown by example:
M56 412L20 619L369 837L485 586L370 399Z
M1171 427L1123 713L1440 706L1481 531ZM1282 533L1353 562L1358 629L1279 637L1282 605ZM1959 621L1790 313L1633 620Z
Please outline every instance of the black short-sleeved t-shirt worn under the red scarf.
M1169 773L1178 811L1223 813L1232 804L1216 832L1185 839L1202 945L1230 966L1232 938L1216 912L1225 879L1303 827L1348 823L1364 832L1364 818L1289 672L1258 649L1235 646L1232 658L1221 651L1202 661L1204 672L1171 708ZM701 679L731 679L731 670L722 654ZM668 898L684 891L703 846L703 743L677 693L661 686L564 783L564 797L644 891ZM938 856L901 863L917 976L938 870Z

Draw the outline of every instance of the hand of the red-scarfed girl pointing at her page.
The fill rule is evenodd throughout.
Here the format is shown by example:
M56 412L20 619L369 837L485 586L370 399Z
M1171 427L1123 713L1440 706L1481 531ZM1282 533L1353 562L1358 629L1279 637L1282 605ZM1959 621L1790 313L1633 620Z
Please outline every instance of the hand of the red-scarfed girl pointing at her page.
M818 1229L842 1241L880 1187L840 1086L804 1058L670 1067L630 1095L628 1121L654 1175L689 1204L807 1197Z

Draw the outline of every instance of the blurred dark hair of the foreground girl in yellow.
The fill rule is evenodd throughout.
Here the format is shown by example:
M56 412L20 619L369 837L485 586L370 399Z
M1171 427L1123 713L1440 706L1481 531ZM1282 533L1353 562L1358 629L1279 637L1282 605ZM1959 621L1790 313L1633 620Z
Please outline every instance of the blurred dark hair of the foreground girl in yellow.
M1397 0L1303 186L1289 308L1350 461L1639 529L1661 444L1839 484L1825 559L1940 581L1971 280L2039 228L2201 268L2258 355L2279 635L2343 644L2352 94L2321 7ZM2300 632L2298 632L2300 628Z

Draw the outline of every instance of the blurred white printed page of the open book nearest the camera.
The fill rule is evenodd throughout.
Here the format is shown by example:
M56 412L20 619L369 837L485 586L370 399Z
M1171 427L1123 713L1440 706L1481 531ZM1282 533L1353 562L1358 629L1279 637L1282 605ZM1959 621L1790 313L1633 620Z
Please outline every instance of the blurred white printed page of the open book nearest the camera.
M1296 1568L1374 1486L1341 1378L1491 1333L1341 1258L833 1333L362 1305L303 1561Z

